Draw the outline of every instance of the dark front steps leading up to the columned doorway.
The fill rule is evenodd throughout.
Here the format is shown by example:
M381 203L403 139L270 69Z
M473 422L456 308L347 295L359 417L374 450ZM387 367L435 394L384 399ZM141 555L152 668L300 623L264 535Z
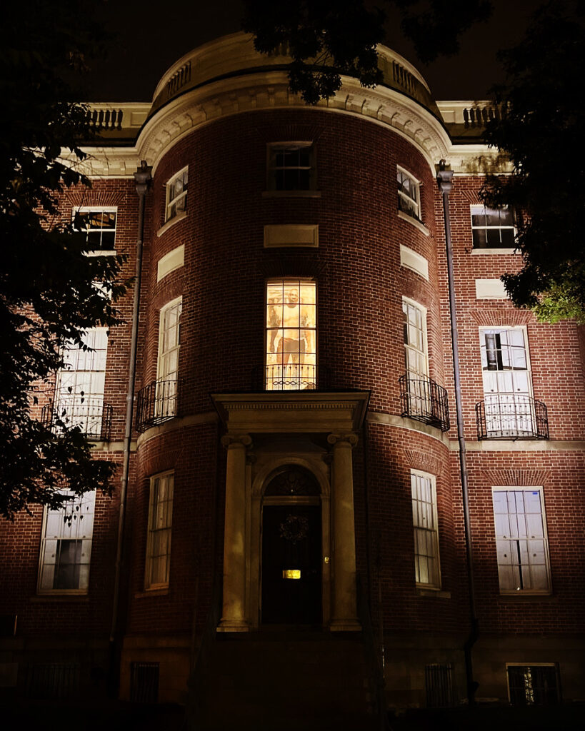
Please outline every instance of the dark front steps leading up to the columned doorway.
M376 728L361 633L218 635L205 674L203 731Z

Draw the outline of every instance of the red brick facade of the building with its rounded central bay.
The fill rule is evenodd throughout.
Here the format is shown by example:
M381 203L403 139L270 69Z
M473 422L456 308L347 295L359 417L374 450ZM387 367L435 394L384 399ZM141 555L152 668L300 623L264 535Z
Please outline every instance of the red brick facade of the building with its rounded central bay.
M170 114L174 107L167 107L148 124ZM297 277L317 283L317 363L320 373L328 374L327 393L369 392L368 411L352 451L355 562L374 627L379 628L383 618L388 702L396 707L425 705L424 668L437 663L451 664L457 701L466 694L469 586L445 230L434 167L416 135L407 135L407 126L399 132L383 124L382 116L379 121L373 114L342 112L334 105L268 107L259 104L218 112L216 118L210 115L156 159L147 156L154 175L146 197L136 393L157 377L160 311L178 297L182 297L181 390L175 418L143 433L133 432L118 605L121 697L131 692L132 663L159 662L159 700L185 698L190 658L196 655L213 603L212 587L214 582L221 584L224 574L230 478L220 442L224 418L218 416L210 395L252 398L255 390L263 390L265 283ZM431 117L431 112L423 111ZM140 135L147 134L148 124ZM439 126L437 120L432 124ZM314 191L304 196L268 194L267 145L295 140L314 143ZM456 157L455 144L452 151ZM166 183L187 166L186 216L161 232ZM408 216L399 216L397 166L420 181L420 219L426 230ZM577 699L585 610L582 344L580 349L573 322L543 325L507 300L476 298L475 280L499 279L521 263L514 254L473 249L469 206L478 202L480 184L480 175L456 170L450 194L479 625L473 651L478 697L507 702L507 663L551 663L559 670L565 700ZM63 216L70 216L78 205L117 207L116 251L127 254L124 276L132 276L138 205L129 175L96 179L91 189L67 193ZM317 224L319 245L266 248L264 227L284 224ZM157 281L159 260L178 246L184 246L184 265ZM428 279L401 265L401 246L426 261ZM401 416L402 298L426 308L429 376L448 390L451 428L446 433ZM110 442L97 446L97 458L121 463L132 289L120 306L127 322L108 338L104 393L105 403L113 406L113 428ZM478 439L475 404L483 399L479 329L505 326L525 327L532 393L548 407L548 440ZM286 456L287 439L290 454L295 455L292 462L302 463L313 450L331 474L326 436L325 431L293 436L285 430L274 435L252 433L254 446L249 448L246 468L252 477L246 479L253 482L260 474L256 460ZM435 591L415 582L411 470L436 480L441 583ZM151 477L166 471L174 473L170 575L167 587L148 591L144 577ZM500 593L494 487L542 488L549 593ZM4 583L0 613L18 616L15 636L4 637L0 646L7 663L18 664L18 687L23 692L27 668L34 663L78 662L80 682L88 689L91 678L106 673L119 504L119 482L111 499L97 496L86 594L37 594L42 509L32 507L30 515L0 526ZM252 507L252 522L253 510L257 507ZM253 528L247 526L246 531L253 533ZM248 556L246 561L246 586L252 587L246 591L253 594L261 578L254 558ZM246 601L254 607L258 599ZM262 629L261 617L252 617L251 623L251 632ZM328 631L325 620L323 631ZM539 643L544 635L546 642Z

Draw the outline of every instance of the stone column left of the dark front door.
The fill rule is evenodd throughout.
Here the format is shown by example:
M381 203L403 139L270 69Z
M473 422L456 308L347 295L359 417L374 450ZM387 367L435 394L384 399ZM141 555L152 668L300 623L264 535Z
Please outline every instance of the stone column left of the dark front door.
M222 436L225 477L224 580L219 632L246 632L246 448L248 434Z

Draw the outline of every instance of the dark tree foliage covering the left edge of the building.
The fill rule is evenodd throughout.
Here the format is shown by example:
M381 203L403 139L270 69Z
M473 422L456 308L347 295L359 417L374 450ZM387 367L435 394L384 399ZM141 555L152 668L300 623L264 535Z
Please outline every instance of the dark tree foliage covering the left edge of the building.
M119 322L112 302L120 257L87 257L83 235L57 212L56 194L88 181L61 159L83 159L86 109L75 86L103 37L92 4L8 4L0 26L0 515L31 503L56 507L60 490L107 491L114 465L91 458L79 428L61 436L33 418L63 366L65 341ZM111 293L111 298L110 298Z

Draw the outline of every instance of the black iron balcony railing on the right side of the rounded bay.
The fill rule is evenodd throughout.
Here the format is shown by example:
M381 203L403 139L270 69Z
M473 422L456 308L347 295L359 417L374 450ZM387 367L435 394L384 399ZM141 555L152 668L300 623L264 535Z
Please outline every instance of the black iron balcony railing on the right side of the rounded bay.
M449 431L449 401L447 391L428 376L400 376L401 416Z

